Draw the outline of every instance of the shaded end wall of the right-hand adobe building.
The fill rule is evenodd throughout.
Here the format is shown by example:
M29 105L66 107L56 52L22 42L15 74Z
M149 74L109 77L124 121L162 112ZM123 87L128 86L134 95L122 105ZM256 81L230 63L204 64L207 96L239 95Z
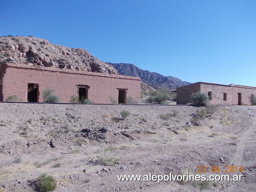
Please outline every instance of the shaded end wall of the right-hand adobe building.
M200 83L193 83L177 88L176 91L176 104L190 103L191 93L198 92L200 90Z

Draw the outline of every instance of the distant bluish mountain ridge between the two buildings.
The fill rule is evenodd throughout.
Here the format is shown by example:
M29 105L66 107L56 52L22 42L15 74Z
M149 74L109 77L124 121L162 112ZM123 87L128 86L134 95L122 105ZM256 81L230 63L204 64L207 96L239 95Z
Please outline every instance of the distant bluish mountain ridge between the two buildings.
M133 64L125 64L125 63L109 63L107 64L113 65L117 72L120 75L128 75L128 76L136 76L140 77L143 83L147 83L154 88L163 87L169 89L176 89L178 87L191 84L189 82L182 81L173 76L163 76L156 72L144 71Z

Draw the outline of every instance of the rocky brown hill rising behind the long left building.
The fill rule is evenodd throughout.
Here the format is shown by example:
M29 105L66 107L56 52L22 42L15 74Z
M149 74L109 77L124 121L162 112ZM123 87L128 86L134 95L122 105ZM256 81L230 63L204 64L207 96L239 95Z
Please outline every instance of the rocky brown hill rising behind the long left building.
M118 74L113 66L99 61L85 49L54 45L35 37L0 37L0 64L6 62Z

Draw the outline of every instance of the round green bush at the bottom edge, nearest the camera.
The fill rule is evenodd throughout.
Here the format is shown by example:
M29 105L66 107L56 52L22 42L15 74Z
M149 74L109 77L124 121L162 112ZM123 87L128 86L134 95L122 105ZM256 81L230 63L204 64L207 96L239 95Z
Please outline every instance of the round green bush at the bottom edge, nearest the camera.
M56 188L56 181L51 175L42 173L38 179L38 186L41 192L54 191Z

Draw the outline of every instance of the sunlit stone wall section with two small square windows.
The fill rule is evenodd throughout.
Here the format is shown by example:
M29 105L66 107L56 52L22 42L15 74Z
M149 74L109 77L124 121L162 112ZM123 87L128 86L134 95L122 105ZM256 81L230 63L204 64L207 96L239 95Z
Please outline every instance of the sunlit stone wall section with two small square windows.
M215 85L210 83L201 83L201 93L208 95L212 92L212 100L210 105L231 105L232 104L232 87L226 85ZM227 100L224 100L224 93L227 93Z

